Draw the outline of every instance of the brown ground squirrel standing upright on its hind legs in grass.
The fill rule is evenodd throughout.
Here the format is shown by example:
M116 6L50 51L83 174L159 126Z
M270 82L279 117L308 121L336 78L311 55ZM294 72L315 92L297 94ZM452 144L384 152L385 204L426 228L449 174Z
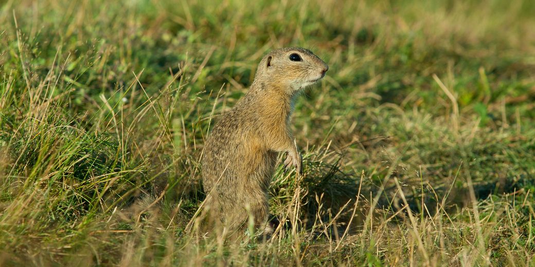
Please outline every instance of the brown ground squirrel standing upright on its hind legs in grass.
M268 189L278 153L287 153L286 167L302 172L289 130L295 96L327 70L310 50L273 50L260 61L246 95L213 127L204 146L202 178L206 207L225 225L243 225L253 215L259 230L273 230Z

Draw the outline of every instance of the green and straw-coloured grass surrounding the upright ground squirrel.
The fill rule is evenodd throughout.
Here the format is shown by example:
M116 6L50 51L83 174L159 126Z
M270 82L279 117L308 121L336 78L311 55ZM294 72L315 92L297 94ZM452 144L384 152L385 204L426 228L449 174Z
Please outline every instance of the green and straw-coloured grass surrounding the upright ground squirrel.
M533 264L530 1L0 1L0 265ZM296 103L268 242L198 229L217 115L262 55ZM187 231L188 226L191 231Z

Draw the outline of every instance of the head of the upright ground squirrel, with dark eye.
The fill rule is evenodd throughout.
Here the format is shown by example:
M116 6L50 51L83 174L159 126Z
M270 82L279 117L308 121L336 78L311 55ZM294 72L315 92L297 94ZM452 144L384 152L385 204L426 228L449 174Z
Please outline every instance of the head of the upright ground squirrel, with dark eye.
M266 54L256 69L255 83L282 85L297 91L321 80L329 67L312 51L304 48L281 48Z

